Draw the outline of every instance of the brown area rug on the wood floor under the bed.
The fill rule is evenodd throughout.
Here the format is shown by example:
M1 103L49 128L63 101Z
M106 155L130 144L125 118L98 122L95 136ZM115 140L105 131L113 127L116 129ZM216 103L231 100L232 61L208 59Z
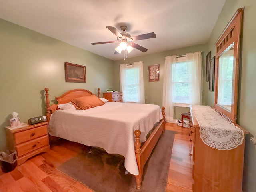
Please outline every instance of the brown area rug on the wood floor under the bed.
M165 131L144 166L142 188L135 177L125 174L124 157L96 147L85 147L57 169L94 192L165 192L175 132Z

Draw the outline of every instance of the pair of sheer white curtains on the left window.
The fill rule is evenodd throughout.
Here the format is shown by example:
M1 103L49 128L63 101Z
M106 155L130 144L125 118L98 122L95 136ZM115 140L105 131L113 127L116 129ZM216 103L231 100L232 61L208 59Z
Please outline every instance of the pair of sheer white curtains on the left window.
M144 90L144 74L143 74L143 62L134 62L133 64L120 64L120 90L123 92L123 102L128 102L127 100L127 89L126 84L128 80L127 70L135 69L138 73L134 74L134 80L137 82L136 91L136 103L145 103L145 90ZM131 78L131 77L130 77Z

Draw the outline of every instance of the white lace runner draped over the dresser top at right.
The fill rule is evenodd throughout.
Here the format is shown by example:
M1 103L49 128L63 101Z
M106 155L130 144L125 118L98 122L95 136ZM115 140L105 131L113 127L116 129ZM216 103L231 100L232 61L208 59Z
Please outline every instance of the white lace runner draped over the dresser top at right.
M244 132L210 106L193 105L192 110L204 144L218 150L231 150L242 144Z

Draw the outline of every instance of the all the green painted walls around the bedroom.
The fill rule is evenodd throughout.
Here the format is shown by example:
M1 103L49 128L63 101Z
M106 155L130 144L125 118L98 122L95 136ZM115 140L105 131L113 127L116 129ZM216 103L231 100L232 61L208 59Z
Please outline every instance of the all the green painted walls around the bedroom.
M96 94L96 89L119 90L119 66L135 61L144 62L144 80L146 103L162 106L162 88L164 60L170 55L184 55L188 52L202 51L203 62L203 105L214 105L214 92L208 91L205 82L206 54L215 55L215 41L233 16L241 7L244 10L242 67L240 70L238 97L238 124L248 130L244 162L244 192L256 190L256 146L250 143L250 137L256 136L254 109L256 108L256 1L226 0L220 16L214 26L208 43L128 58L126 61L111 61L80 48L44 36L32 30L17 26L0 19L0 150L6 147L4 126L9 124L13 111L18 112L22 122L28 118L44 114L44 88L50 88L50 101L67 90L85 88ZM64 62L86 66L87 83L66 83ZM160 82L148 82L148 66L160 64ZM175 119L188 108L175 109ZM226 162L228 163L228 162Z

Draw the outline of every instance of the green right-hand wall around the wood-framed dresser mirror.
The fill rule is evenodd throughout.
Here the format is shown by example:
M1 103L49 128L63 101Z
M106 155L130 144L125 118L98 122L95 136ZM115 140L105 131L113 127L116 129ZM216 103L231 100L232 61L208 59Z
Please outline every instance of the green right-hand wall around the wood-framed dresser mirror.
M242 34L242 58L240 58L240 80L238 97L238 124L250 132L246 135L243 191L256 191L256 146L250 142L251 136L256 136L256 1L255 0L226 0L222 12L210 36L208 48L212 55L216 54L214 43L222 30L228 24L238 8L244 7L244 26ZM214 95L209 94L208 100L214 102ZM228 163L228 162L227 162Z

